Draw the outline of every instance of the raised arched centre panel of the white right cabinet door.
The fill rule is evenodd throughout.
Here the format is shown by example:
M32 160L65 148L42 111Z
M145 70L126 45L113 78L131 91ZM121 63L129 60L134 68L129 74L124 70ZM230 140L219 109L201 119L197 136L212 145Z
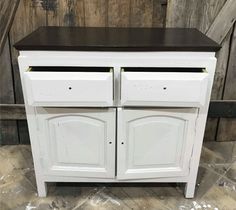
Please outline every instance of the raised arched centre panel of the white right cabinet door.
M151 116L127 123L129 167L158 167L180 161L185 121L171 116ZM165 149L163 149L165 148Z

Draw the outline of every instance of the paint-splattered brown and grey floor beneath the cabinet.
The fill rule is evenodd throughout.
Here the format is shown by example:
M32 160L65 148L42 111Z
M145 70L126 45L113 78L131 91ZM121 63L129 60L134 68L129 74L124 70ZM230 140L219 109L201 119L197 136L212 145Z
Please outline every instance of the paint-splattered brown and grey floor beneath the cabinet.
M0 210L236 210L236 142L206 142L196 196L178 184L57 184L38 198L30 146L0 147Z

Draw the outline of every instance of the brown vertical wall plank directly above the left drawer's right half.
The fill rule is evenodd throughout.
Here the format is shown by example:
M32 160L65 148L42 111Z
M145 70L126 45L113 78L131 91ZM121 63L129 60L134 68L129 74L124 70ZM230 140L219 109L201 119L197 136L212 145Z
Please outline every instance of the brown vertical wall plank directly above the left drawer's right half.
M85 26L105 27L107 25L107 0L84 0Z

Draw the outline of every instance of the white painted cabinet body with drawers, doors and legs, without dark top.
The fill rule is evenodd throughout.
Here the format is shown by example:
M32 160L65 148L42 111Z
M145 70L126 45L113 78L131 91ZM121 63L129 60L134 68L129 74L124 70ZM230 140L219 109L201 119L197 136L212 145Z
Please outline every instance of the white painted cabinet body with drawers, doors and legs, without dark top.
M193 197L213 53L29 51L19 61L39 196L48 182L178 182Z

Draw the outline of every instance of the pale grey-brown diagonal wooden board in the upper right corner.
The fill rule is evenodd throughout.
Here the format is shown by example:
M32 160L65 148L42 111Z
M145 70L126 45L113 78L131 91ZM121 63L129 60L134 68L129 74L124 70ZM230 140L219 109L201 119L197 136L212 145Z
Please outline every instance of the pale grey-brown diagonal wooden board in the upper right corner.
M206 34L221 43L236 20L236 1L227 0Z

